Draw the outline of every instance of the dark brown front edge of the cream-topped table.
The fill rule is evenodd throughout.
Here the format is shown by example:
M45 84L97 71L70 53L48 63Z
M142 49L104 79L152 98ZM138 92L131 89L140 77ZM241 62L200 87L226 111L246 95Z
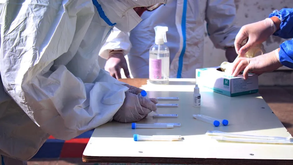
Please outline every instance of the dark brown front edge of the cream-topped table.
M277 159L218 159L218 158L151 158L151 157L92 157L82 155L85 163L157 163L157 164L201 164L218 165L292 165L293 160Z

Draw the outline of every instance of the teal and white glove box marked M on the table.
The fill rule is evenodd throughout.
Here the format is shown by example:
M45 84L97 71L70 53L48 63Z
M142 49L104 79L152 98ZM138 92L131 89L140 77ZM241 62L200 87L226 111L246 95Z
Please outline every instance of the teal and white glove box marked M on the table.
M196 84L214 92L234 97L258 92L258 75L249 74L244 80L243 75L233 77L221 70L219 66L196 69Z

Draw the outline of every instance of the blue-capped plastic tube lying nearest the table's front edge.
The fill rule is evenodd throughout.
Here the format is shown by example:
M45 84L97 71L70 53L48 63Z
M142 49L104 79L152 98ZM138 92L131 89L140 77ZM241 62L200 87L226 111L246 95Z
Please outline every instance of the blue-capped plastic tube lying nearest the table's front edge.
M133 135L133 140L134 141L140 141L140 140L146 140L146 141L176 141L180 140L181 137L179 138L178 136L145 136L145 135L138 135L134 134Z

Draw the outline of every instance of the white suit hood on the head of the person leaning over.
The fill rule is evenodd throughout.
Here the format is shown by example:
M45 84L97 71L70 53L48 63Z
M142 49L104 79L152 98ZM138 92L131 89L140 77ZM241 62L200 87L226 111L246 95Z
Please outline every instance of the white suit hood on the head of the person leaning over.
M122 32L130 32L141 17L133 10L134 7L148 7L156 3L166 4L167 0L98 0L108 19Z

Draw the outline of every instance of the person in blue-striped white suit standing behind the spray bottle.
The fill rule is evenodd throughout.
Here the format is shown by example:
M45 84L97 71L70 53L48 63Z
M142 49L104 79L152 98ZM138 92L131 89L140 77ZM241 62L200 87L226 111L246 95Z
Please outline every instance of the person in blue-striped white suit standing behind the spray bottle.
M134 78L149 77L149 49L155 43L157 25L167 26L170 49L170 78L195 78L195 69L203 67L204 21L214 46L224 49L226 58L237 57L235 37L240 30L234 24L234 0L170 0L154 12L144 12L142 22L128 36L114 28L99 55L106 59L105 70L121 78L124 70L130 78L124 55L128 54L129 67Z

